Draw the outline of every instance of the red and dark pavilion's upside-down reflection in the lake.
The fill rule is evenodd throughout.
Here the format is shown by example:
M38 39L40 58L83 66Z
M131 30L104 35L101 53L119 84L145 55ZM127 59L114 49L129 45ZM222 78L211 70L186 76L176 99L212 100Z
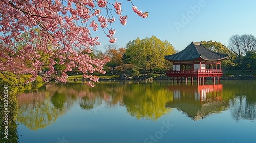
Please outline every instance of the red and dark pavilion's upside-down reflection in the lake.
M166 108L178 109L193 120L199 120L214 113L219 113L228 107L222 101L222 85L173 85L168 90L173 91L173 101L166 103Z

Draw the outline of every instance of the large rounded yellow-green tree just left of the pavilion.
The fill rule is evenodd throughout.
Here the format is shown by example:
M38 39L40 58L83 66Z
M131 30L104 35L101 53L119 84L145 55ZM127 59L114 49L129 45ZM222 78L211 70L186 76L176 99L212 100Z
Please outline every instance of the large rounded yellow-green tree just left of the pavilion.
M142 40L137 38L127 43L125 56L146 73L147 70L151 72L155 68L166 68L164 55L174 53L174 47L167 40L161 41L152 36Z

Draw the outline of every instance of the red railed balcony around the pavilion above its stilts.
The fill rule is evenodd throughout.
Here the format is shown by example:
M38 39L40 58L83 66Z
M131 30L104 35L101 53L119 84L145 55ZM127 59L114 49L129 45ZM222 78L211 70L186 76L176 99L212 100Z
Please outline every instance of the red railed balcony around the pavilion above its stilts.
M221 69L198 69L198 70L168 70L168 77L221 77Z

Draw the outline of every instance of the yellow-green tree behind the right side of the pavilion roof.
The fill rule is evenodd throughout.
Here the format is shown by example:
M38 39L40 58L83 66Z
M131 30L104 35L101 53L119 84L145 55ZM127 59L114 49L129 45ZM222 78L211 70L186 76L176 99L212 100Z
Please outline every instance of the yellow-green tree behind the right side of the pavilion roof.
M216 41L201 41L201 43L207 47L209 50L217 52L217 53L222 53L222 54L228 54L228 58L224 59L222 63L222 67L224 68L232 68L233 66L236 66L236 58L237 55L229 50L226 45L216 42Z

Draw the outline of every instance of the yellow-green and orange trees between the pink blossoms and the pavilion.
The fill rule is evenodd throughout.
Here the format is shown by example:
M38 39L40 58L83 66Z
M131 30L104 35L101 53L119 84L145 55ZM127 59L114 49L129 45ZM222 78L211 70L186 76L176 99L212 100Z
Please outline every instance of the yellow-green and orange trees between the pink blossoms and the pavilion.
M167 40L161 41L156 36L137 38L118 48L115 44L105 45L105 52L94 50L99 58L108 58L105 71L111 74L125 73L139 76L147 73L162 73L171 67L171 63L164 59L164 55L174 54L176 51Z

